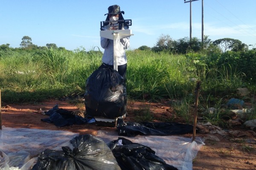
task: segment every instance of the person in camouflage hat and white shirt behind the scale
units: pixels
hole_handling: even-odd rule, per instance
[[[107,18],[104,25],[110,25],[108,27],[108,30],[116,29],[114,26],[117,24],[117,20],[124,20],[122,14],[125,14],[124,11],[120,11],[120,7],[118,5],[113,5],[108,7],[108,13]],[[109,22],[111,21],[111,22]],[[124,29],[128,29],[128,26],[125,26]],[[101,37],[101,46],[104,49],[104,54],[102,56],[102,65],[108,65],[109,67],[113,68],[113,40],[110,40],[108,38]],[[130,37],[125,37],[120,39],[122,48],[119,48],[119,51],[115,51],[116,57],[117,57],[117,71],[118,73],[123,77],[124,82],[126,82],[126,70],[127,70],[127,57],[125,53],[125,49],[129,48],[130,46]],[[117,45],[117,44],[115,44]]]

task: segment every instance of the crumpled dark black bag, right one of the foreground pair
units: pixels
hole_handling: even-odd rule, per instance
[[[108,146],[122,170],[177,170],[156,156],[150,147],[128,139],[119,137],[109,142]]]

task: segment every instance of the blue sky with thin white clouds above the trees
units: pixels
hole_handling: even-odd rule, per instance
[[[162,34],[173,40],[189,37],[190,5],[184,0],[0,0],[0,45],[17,48],[29,36],[38,46],[103,51],[100,21],[115,4],[132,20],[130,49],[153,47]],[[200,40],[201,7],[201,0],[192,2],[192,37]],[[204,0],[204,35],[255,45],[255,8],[256,0]]]

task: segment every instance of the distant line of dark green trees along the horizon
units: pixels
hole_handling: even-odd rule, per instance
[[[0,45],[0,50],[42,50],[42,49],[60,49],[66,50],[64,47],[58,47],[55,43],[47,43],[46,46],[38,46],[32,43],[32,39],[29,36],[23,36],[20,42],[20,48],[11,48],[10,44]],[[249,45],[250,46],[250,45]],[[255,45],[254,45],[255,46]],[[255,50],[256,48],[254,48]],[[226,51],[247,51],[248,45],[240,40],[232,38],[222,38],[215,41],[209,39],[209,36],[204,36],[204,42],[201,42],[197,37],[180,38],[173,40],[169,35],[161,35],[154,47],[150,48],[146,45],[140,46],[139,50],[151,50],[153,52],[169,52],[172,54],[186,54],[187,52],[226,52]]]

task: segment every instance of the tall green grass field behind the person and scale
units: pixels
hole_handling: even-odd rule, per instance
[[[132,99],[188,99],[194,93],[196,81],[201,81],[202,94],[225,96],[243,83],[243,75],[232,67],[198,66],[185,55],[131,50],[127,51],[127,56],[126,88],[128,97]],[[102,52],[83,49],[2,51],[2,101],[37,102],[82,95],[86,79],[101,65],[101,59]]]

